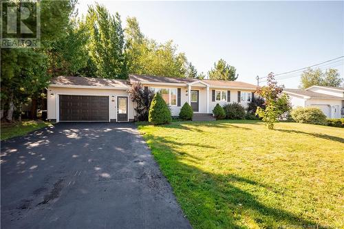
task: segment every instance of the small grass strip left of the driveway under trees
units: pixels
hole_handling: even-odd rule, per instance
[[[1,123],[1,140],[6,140],[8,138],[25,135],[26,133],[35,131],[36,129],[47,127],[48,125],[50,125],[49,122],[34,121],[34,120],[23,121],[21,122],[21,124]]]

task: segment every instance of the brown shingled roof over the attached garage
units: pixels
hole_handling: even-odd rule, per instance
[[[129,88],[127,80],[109,78],[91,78],[82,76],[57,76],[50,80],[51,87],[102,87],[102,88]]]

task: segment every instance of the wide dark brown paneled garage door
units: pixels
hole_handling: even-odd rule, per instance
[[[109,122],[108,96],[59,95],[60,121]]]

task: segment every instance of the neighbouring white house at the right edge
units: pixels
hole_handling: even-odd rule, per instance
[[[292,107],[319,107],[327,118],[344,117],[344,88],[312,86],[305,90],[284,89]]]

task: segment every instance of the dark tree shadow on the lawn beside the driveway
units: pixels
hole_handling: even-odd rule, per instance
[[[180,143],[153,135],[144,135],[144,138],[150,140],[149,146],[153,146],[152,152],[160,162],[162,173],[173,186],[184,213],[195,228],[246,228],[240,222],[247,222],[247,219],[261,228],[316,225],[279,206],[262,204],[255,195],[239,188],[238,183],[255,186],[253,189],[264,188],[266,193],[271,193],[272,187],[235,174],[202,171],[184,163],[190,161],[187,157],[192,157],[192,161],[197,158],[178,151]]]

